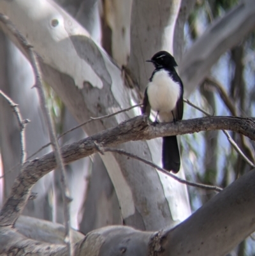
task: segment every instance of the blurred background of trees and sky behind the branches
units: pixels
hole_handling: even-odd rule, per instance
[[[128,64],[132,0],[56,0],[55,2],[75,17],[89,31],[94,41],[101,45],[120,67]],[[237,0],[193,2],[192,10],[189,10],[184,24],[184,54],[191,49],[194,41],[207,32],[208,27],[215,20],[221,19],[241,3]],[[224,52],[201,84],[188,90],[189,93],[186,93],[185,97],[190,102],[214,116],[254,116],[254,32],[240,38],[238,45]],[[181,58],[181,56],[178,57],[179,61]],[[25,129],[27,155],[31,156],[49,142],[47,130],[43,125],[38,96],[36,91],[31,89],[34,84],[34,75],[29,62],[1,31],[0,77],[0,89],[18,103],[22,117],[32,121]],[[184,84],[185,90],[186,84]],[[45,84],[45,91],[48,107],[54,116],[57,134],[60,135],[76,126],[75,119],[47,84]],[[1,206],[19,172],[20,147],[17,120],[2,99],[0,99],[0,106]],[[184,106],[184,119],[205,116],[186,103]],[[230,132],[230,135],[247,158],[254,163],[254,142],[239,134]],[[75,130],[61,138],[61,145],[84,137],[85,133],[82,129]],[[51,149],[47,147],[33,158],[50,151]],[[226,135],[221,131],[182,135],[180,151],[182,167],[189,181],[214,184],[224,188],[251,170],[251,166],[233,149]],[[77,169],[80,171],[75,172],[74,170]],[[87,233],[105,225],[122,224],[117,195],[98,155],[78,160],[68,165],[66,170],[69,190],[73,198],[71,226],[74,229]],[[97,170],[97,176],[94,175],[93,170]],[[33,192],[38,193],[38,197],[29,201],[23,214],[63,223],[59,186],[57,170],[40,179],[33,188]],[[215,192],[193,187],[188,187],[188,191],[192,211],[196,211],[215,195]],[[247,238],[229,255],[255,255],[253,236]]]

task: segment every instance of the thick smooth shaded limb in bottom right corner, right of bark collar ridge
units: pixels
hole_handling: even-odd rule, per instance
[[[254,177],[254,170],[240,177],[179,227],[164,232],[164,251],[173,255],[223,256],[233,250],[255,230]]]

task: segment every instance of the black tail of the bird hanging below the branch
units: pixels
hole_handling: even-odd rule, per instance
[[[179,172],[180,153],[176,136],[163,137],[162,163],[164,169]]]

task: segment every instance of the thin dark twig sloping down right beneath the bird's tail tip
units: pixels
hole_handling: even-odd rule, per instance
[[[111,147],[100,147],[100,151],[103,149],[103,151],[105,152],[114,152],[114,153],[118,153],[118,154],[123,154],[125,156],[134,158],[136,160],[139,160],[143,163],[146,163],[147,165],[150,165],[151,167],[159,170],[160,172],[163,172],[163,174],[166,174],[167,176],[172,177],[173,179],[175,179],[176,181],[178,181],[179,183],[183,183],[183,184],[187,184],[189,186],[195,186],[196,188],[203,188],[205,190],[214,190],[216,192],[221,192],[222,188],[219,188],[218,186],[210,186],[210,185],[205,185],[205,184],[201,184],[201,183],[194,183],[191,181],[186,181],[185,179],[181,179],[180,177],[175,176],[174,174],[171,174],[171,172],[168,172],[166,170],[164,170],[163,168],[159,167],[158,165],[156,165],[155,163],[152,163],[148,160],[145,160],[143,158],[140,158],[139,156],[136,156],[135,154],[132,153],[128,153],[122,149],[113,149]],[[99,149],[98,149],[99,151]]]

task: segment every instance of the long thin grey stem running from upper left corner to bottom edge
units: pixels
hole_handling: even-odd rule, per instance
[[[52,142],[52,146],[54,147],[54,153],[55,153],[55,158],[57,161],[57,166],[61,170],[61,184],[62,184],[62,197],[64,201],[64,223],[65,223],[65,228],[66,228],[66,245],[68,247],[68,252],[69,255],[73,255],[72,252],[72,246],[71,246],[71,232],[70,232],[70,216],[69,216],[69,193],[68,193],[68,187],[66,184],[66,178],[65,178],[65,173],[64,173],[64,163],[62,162],[62,157],[61,157],[61,151],[59,149],[59,144],[57,142],[57,137],[55,136],[53,124],[52,124],[52,119],[50,117],[50,113],[48,111],[47,105],[46,105],[46,100],[45,100],[45,94],[43,91],[43,82],[41,79],[41,72],[40,72],[40,66],[38,64],[38,58],[33,50],[32,45],[30,45],[27,40],[25,39],[24,36],[13,26],[11,23],[10,19],[6,17],[5,15],[0,15],[0,20],[3,22],[8,29],[10,29],[11,33],[13,36],[15,36],[15,39],[22,45],[22,47],[27,51],[31,66],[34,71],[34,76],[36,79],[36,84],[34,87],[36,87],[39,98],[40,98],[40,103],[41,103],[41,110],[43,111],[43,116],[45,118],[45,122],[47,124],[48,132],[50,133],[50,140]]]

